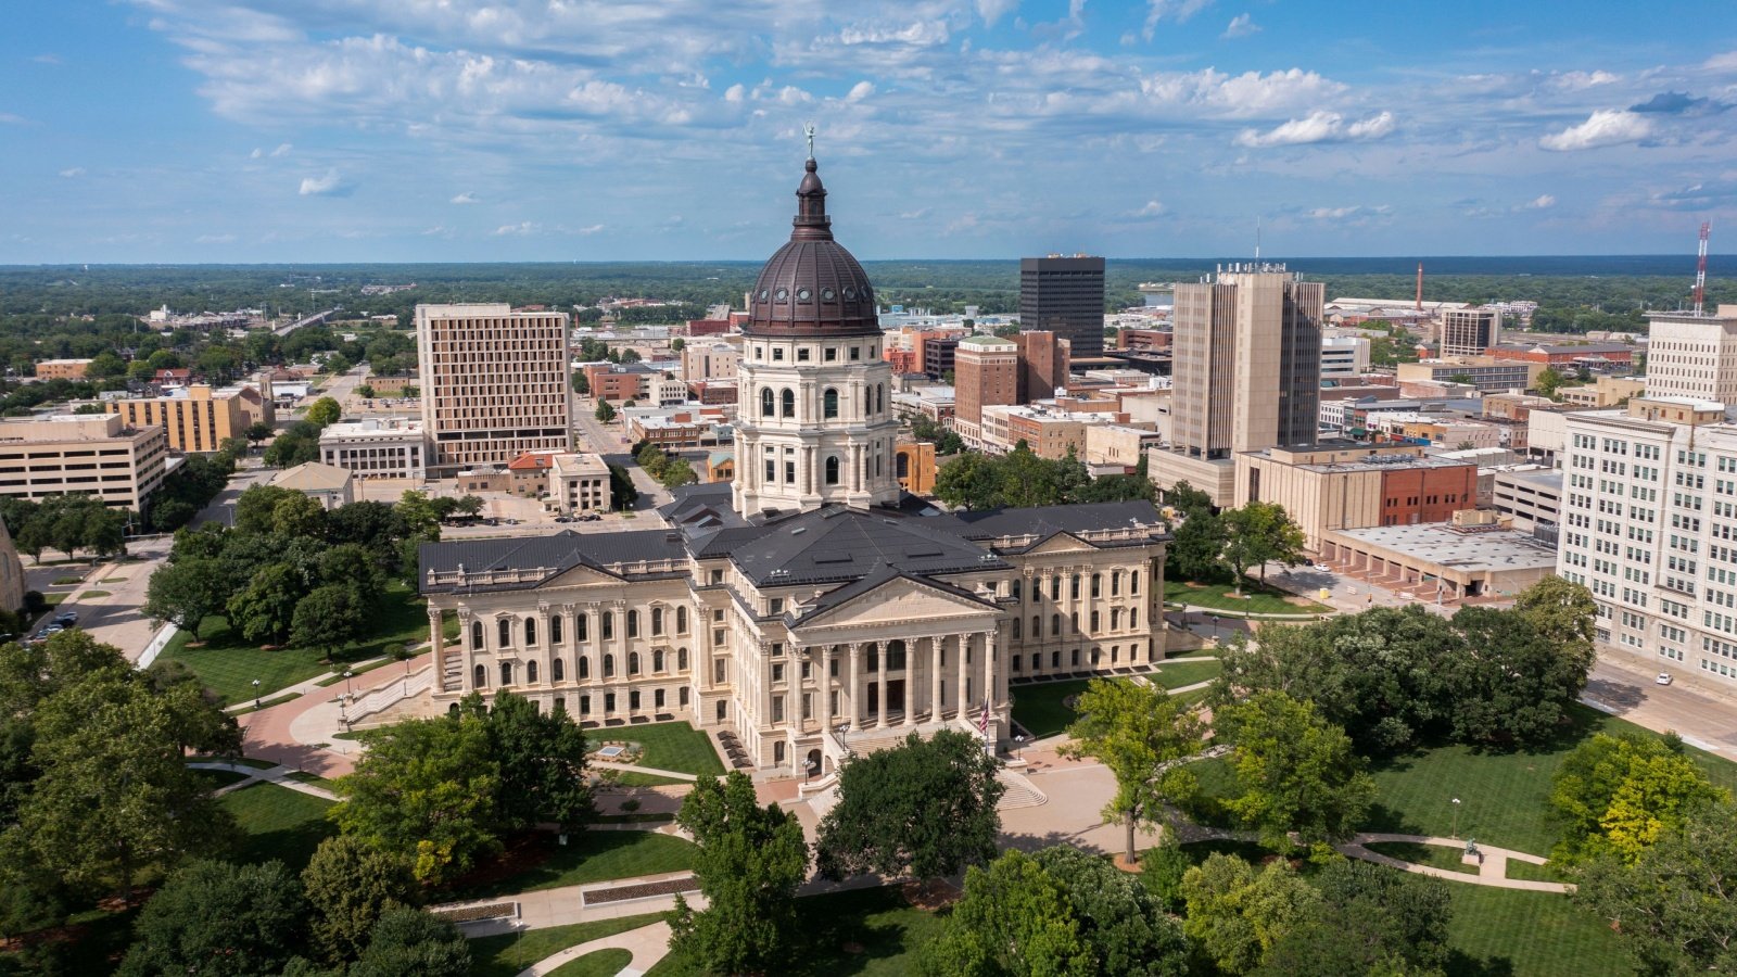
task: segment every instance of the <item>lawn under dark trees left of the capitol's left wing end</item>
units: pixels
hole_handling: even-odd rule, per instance
[[[391,655],[401,650],[405,641],[427,640],[429,619],[422,608],[422,598],[410,591],[401,581],[387,586],[379,614],[372,617],[375,628],[370,636],[334,655],[334,661],[321,661],[323,652],[316,648],[280,648],[262,652],[259,645],[248,643],[241,635],[229,629],[222,617],[207,617],[200,626],[205,645],[189,648],[191,635],[177,631],[163,648],[165,659],[175,659],[191,668],[205,685],[222,697],[224,704],[245,702],[255,697],[254,680],[259,680],[259,695],[271,695],[280,688],[307,681],[328,671],[344,671],[349,662]]]

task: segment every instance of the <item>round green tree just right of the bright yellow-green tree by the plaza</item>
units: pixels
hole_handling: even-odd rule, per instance
[[[1232,748],[1238,796],[1225,807],[1278,852],[1350,838],[1376,796],[1364,758],[1344,730],[1322,720],[1313,702],[1258,692],[1225,706],[1214,727]]]

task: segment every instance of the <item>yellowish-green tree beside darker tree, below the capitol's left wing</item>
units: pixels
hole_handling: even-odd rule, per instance
[[[413,857],[417,880],[438,883],[499,847],[500,765],[472,716],[403,720],[365,730],[356,770],[337,781],[328,814],[346,834]]]

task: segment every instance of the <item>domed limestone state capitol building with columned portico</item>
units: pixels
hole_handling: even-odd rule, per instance
[[[768,774],[941,725],[1009,734],[1009,681],[1164,657],[1150,502],[943,513],[895,478],[874,285],[813,158],[750,294],[733,483],[672,528],[422,546],[429,711],[511,688],[585,727],[730,730]],[[441,635],[443,614],[459,640]]]

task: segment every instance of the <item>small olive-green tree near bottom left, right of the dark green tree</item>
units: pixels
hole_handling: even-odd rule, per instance
[[[320,843],[302,869],[302,887],[313,907],[314,946],[334,965],[363,954],[380,914],[422,902],[408,859],[346,834]]]

